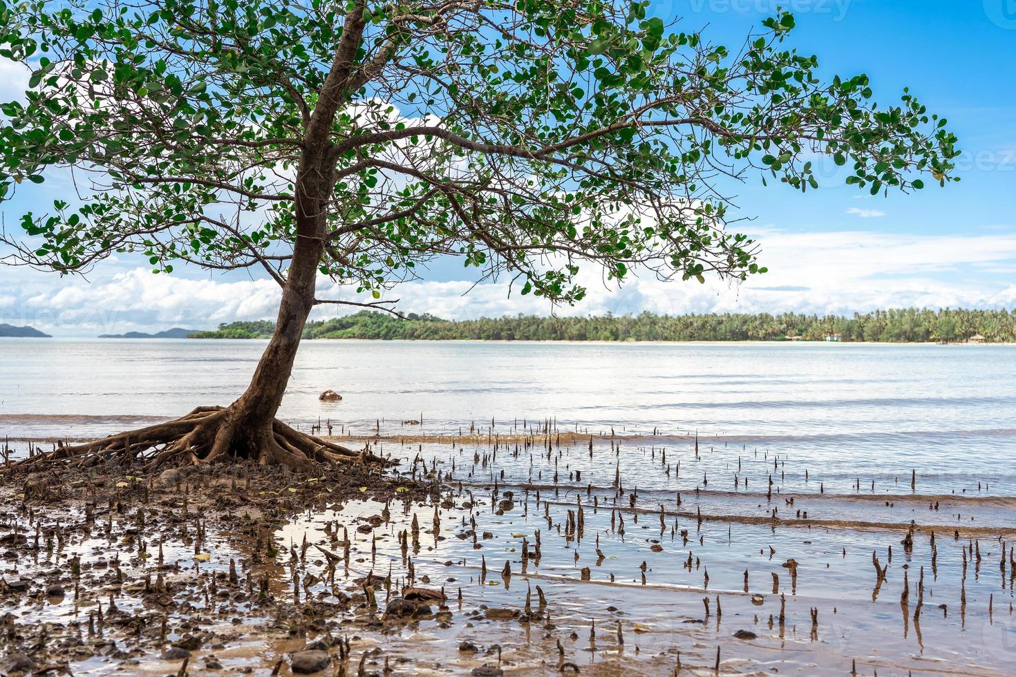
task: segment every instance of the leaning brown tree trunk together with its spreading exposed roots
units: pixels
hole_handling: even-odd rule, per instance
[[[317,464],[395,462],[353,452],[332,441],[294,430],[277,420],[285,387],[307,318],[315,303],[315,283],[328,238],[328,201],[335,188],[335,159],[328,142],[335,112],[345,100],[357,50],[365,25],[364,2],[347,10],[335,59],[322,86],[321,96],[303,139],[303,150],[294,183],[296,242],[275,333],[254,370],[244,394],[229,407],[198,407],[180,418],[137,430],[67,447],[19,462],[34,468],[42,463],[74,460],[78,468],[138,455],[146,470],[167,465],[203,464],[230,458],[252,459],[262,464],[310,469]]]

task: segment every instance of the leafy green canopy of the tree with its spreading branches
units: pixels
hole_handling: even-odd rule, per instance
[[[729,51],[647,5],[0,0],[0,58],[31,70],[0,107],[0,200],[61,167],[81,191],[25,214],[10,261],[139,252],[284,284],[307,236],[374,298],[450,255],[571,302],[582,263],[764,271],[723,193],[755,173],[804,192],[831,159],[872,195],[953,180],[946,121],[908,91],[876,105],[865,75],[820,79],[783,45],[789,13]]]

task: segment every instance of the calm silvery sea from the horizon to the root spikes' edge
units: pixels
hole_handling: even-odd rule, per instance
[[[0,339],[0,434],[99,436],[229,404],[264,345]],[[328,388],[342,402],[319,402]],[[908,485],[917,467],[926,490],[1016,494],[1016,346],[316,341],[280,417],[336,433],[556,417],[561,430],[657,428],[659,446],[697,430],[707,448],[838,469],[843,489],[854,474]]]

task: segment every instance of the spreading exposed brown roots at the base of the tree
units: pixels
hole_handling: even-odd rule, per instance
[[[341,445],[300,432],[278,419],[263,429],[239,423],[228,407],[198,407],[186,416],[136,430],[67,446],[21,459],[13,469],[30,469],[53,463],[76,468],[122,460],[143,464],[145,472],[162,468],[202,465],[230,460],[256,461],[261,465],[313,470],[322,464],[378,464],[393,462],[366,449],[354,452]]]

